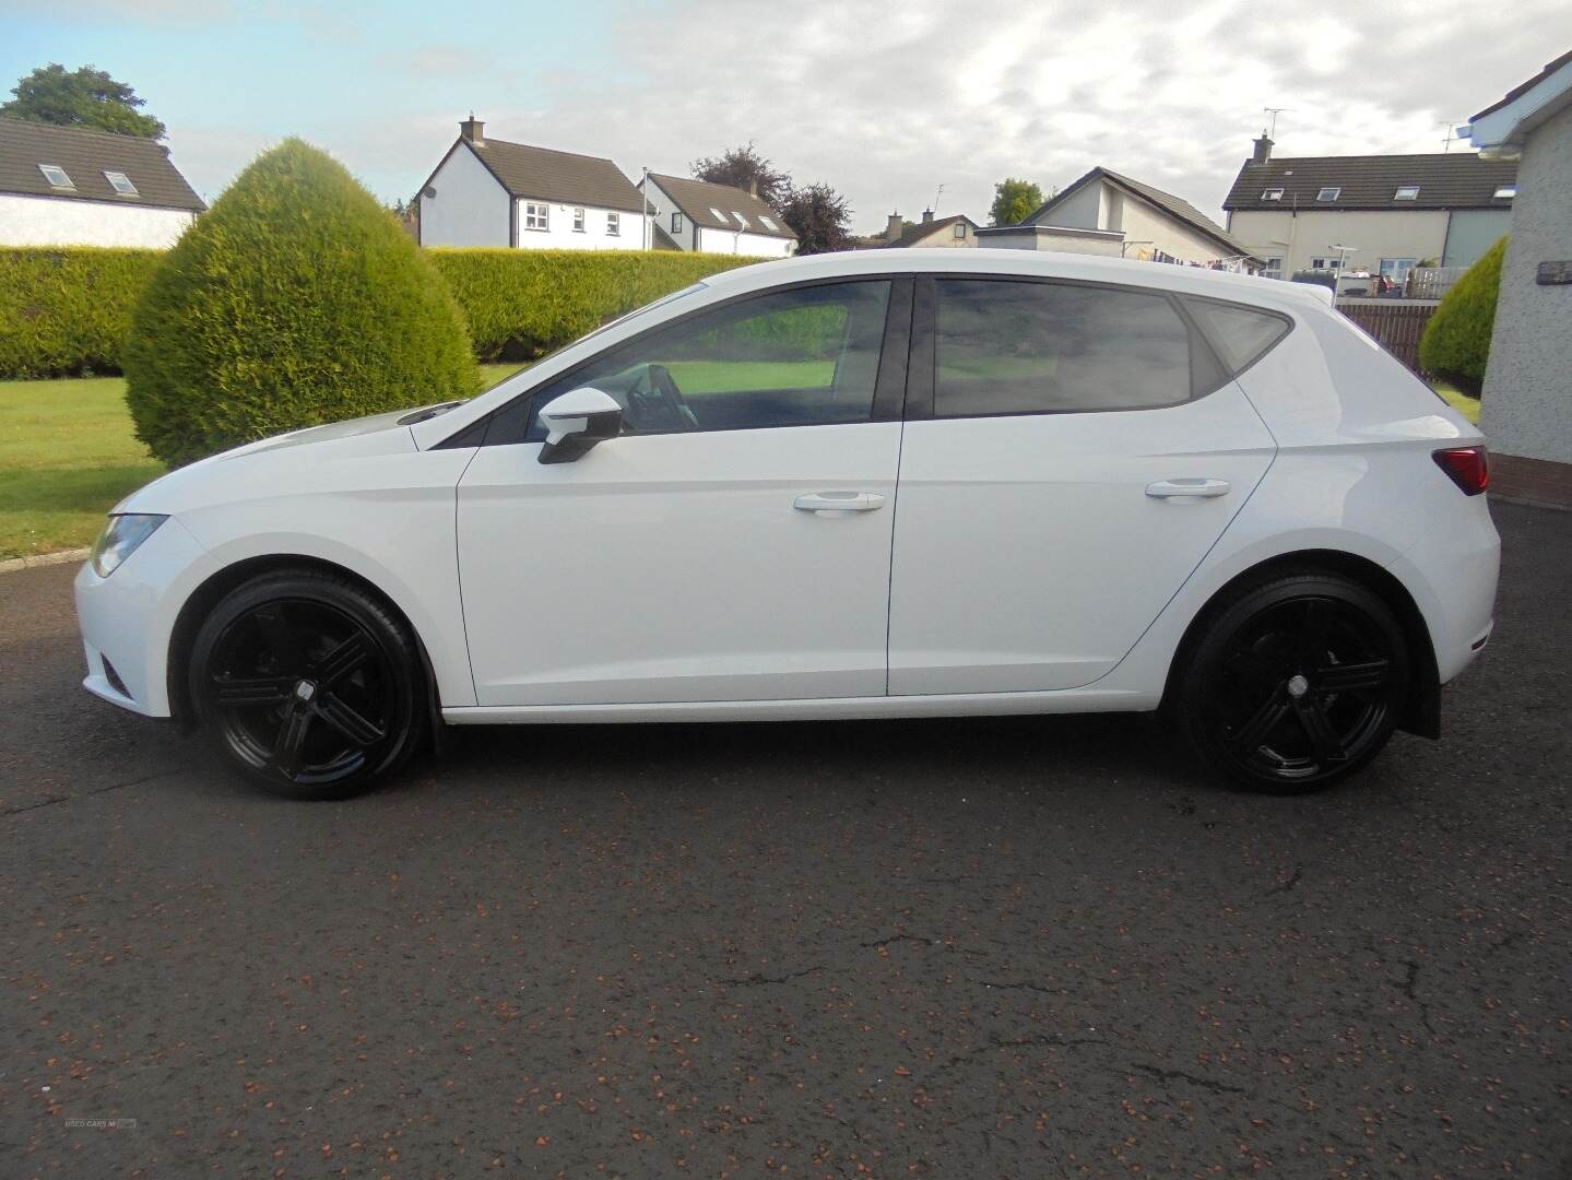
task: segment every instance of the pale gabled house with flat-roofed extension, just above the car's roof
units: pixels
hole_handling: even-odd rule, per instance
[[[1250,272],[1261,262],[1181,196],[1093,168],[1020,225],[978,229],[978,245],[1118,255]]]

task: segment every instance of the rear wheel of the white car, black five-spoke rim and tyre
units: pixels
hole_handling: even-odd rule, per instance
[[[1188,746],[1253,790],[1319,790],[1387,745],[1412,660],[1366,586],[1300,570],[1215,603],[1187,644],[1171,698]]]

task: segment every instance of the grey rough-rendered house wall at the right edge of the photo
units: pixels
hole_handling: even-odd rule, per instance
[[[1572,261],[1572,110],[1530,134],[1517,168],[1484,377],[1482,426],[1501,454],[1572,464],[1572,286],[1539,286],[1541,262]]]

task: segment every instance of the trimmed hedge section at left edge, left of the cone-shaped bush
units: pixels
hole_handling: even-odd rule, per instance
[[[0,377],[119,369],[130,310],[162,258],[96,247],[0,250]]]

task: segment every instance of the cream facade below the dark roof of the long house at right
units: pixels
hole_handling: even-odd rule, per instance
[[[1253,255],[1283,259],[1283,278],[1308,270],[1309,259],[1336,256],[1331,245],[1342,242],[1349,270],[1376,270],[1383,258],[1440,258],[1446,250],[1445,209],[1328,209],[1254,211],[1229,214],[1228,229]],[[1278,245],[1291,242],[1291,247]]]

